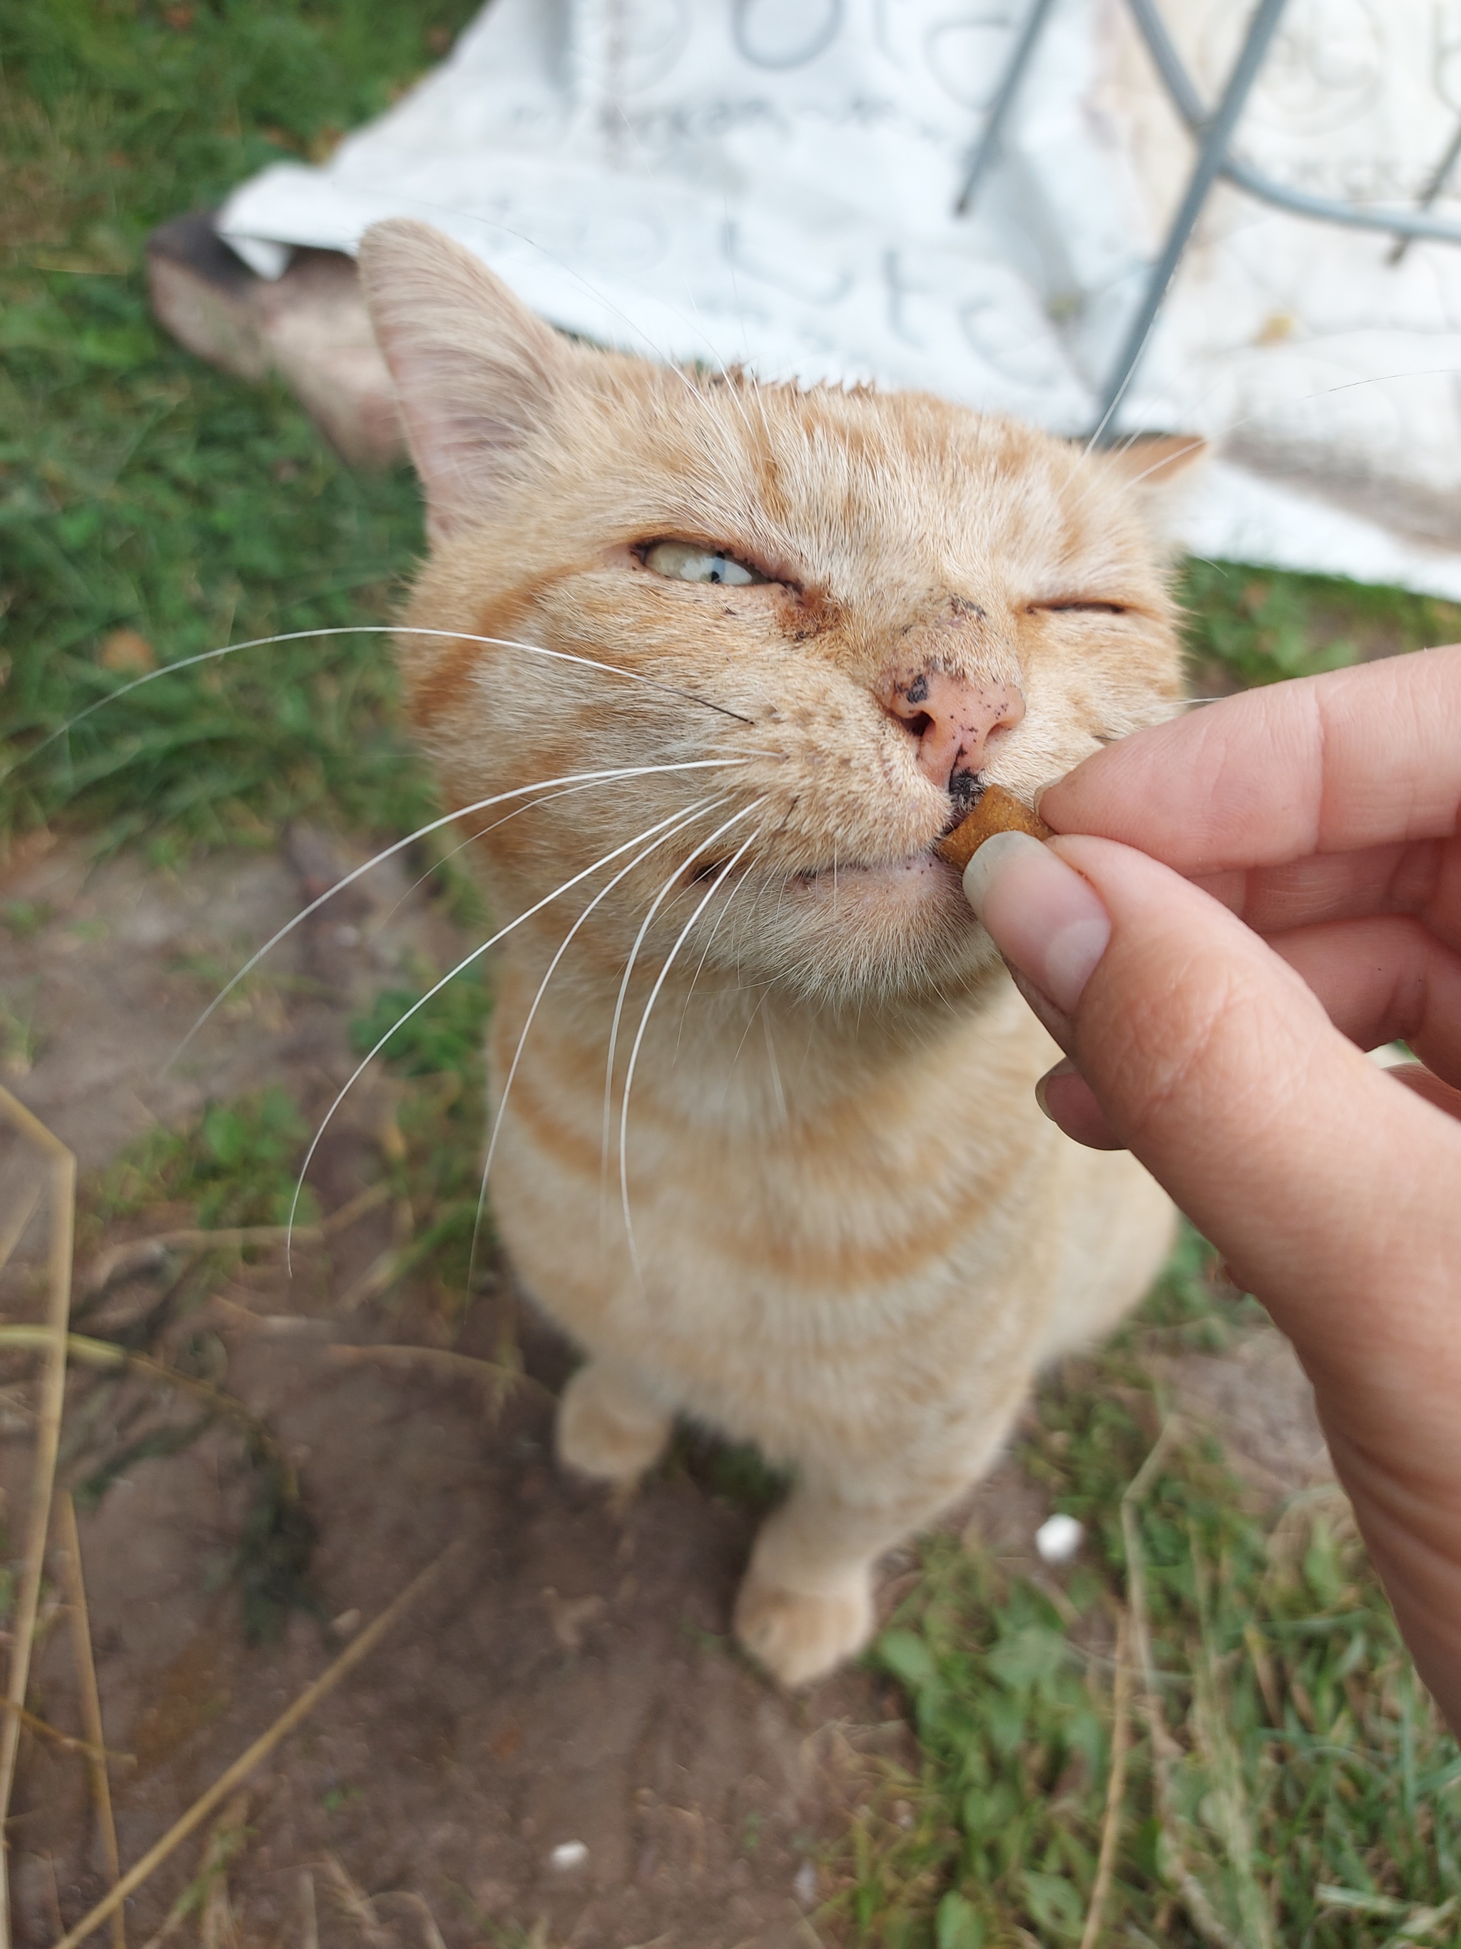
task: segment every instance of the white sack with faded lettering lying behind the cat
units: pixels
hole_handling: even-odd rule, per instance
[[[220,234],[265,277],[421,216],[555,324],[764,378],[921,386],[1087,433],[1192,142],[1122,0],[1060,0],[955,216],[1025,0],[493,0],[323,168]],[[1165,0],[1206,99],[1249,8]],[[1290,0],[1237,152],[1420,197],[1461,115],[1461,0]],[[1457,170],[1461,179],[1461,170]],[[1436,214],[1461,220],[1461,193]],[[1122,427],[1202,433],[1202,555],[1461,598],[1461,246],[1208,205]]]

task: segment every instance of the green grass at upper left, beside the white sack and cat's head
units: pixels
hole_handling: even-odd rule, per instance
[[[468,0],[0,0],[0,737],[23,756],[158,663],[388,618],[421,546],[405,472],[353,476],[279,388],[150,320],[152,224],[382,109]],[[329,807],[431,803],[380,637],[244,651],[146,684],[0,780],[0,830],[66,813],[169,850],[267,844]]]

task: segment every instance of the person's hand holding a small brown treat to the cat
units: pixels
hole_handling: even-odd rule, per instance
[[[1293,1341],[1461,1731],[1459,809],[1453,647],[1112,745],[964,891],[1066,1051],[1046,1115],[1132,1150]]]

